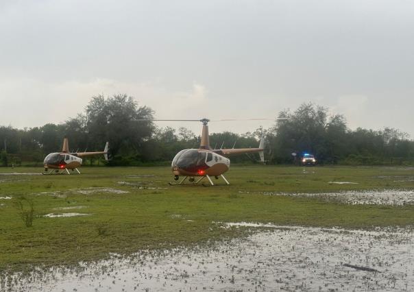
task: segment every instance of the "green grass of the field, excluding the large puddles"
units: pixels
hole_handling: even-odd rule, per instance
[[[219,228],[217,221],[342,228],[414,225],[413,205],[345,205],[260,193],[414,189],[414,182],[396,179],[412,178],[414,170],[408,168],[236,166],[226,175],[230,186],[214,180],[220,184],[214,187],[169,186],[169,167],[84,167],[82,175],[5,175],[41,170],[0,168],[0,197],[13,198],[0,199],[0,270],[74,265],[105,258],[108,252],[130,254],[241,235],[240,229]],[[328,183],[332,181],[358,184]],[[90,193],[80,193],[82,189]],[[29,228],[14,206],[21,196],[34,204]],[[44,217],[64,212],[89,216]]]

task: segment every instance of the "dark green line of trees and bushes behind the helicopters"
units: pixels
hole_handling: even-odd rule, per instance
[[[110,165],[151,165],[171,161],[181,149],[197,148],[200,136],[185,127],[157,127],[154,110],[138,106],[127,95],[90,99],[84,112],[58,125],[16,129],[0,126],[0,164],[42,165],[45,156],[60,151],[64,136],[71,151],[98,151],[110,143]],[[265,136],[265,155],[271,164],[292,164],[308,152],[320,164],[383,165],[412,164],[414,141],[400,130],[385,127],[350,130],[341,114],[328,114],[328,108],[302,104],[294,111],[277,114],[272,127],[254,132],[210,134],[210,146],[216,148],[257,147]],[[201,127],[200,127],[201,128]],[[292,154],[297,154],[293,156]],[[255,161],[253,156],[232,158],[232,162]],[[88,158],[95,165],[101,158]]]

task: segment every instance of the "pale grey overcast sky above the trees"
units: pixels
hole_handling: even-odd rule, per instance
[[[116,93],[160,119],[273,118],[311,101],[352,129],[414,138],[414,1],[0,1],[0,125],[61,123]]]

